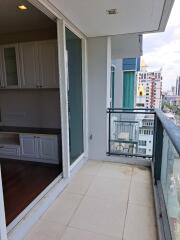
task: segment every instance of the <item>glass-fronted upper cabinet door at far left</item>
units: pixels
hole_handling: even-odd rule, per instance
[[[20,67],[18,45],[3,46],[4,76],[6,88],[20,87]]]

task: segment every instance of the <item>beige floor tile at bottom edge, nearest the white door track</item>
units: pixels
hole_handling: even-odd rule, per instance
[[[24,240],[59,240],[65,228],[63,225],[39,220]]]

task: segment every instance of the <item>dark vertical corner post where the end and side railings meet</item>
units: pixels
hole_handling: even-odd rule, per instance
[[[155,184],[161,179],[162,148],[163,148],[163,126],[156,115],[155,121],[155,146],[154,146],[154,178]]]

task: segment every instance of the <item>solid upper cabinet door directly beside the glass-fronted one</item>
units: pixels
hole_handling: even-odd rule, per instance
[[[35,42],[21,43],[20,60],[22,88],[36,88],[40,86],[37,67],[37,49]]]

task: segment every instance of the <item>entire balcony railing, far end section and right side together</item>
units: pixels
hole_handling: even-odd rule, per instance
[[[158,226],[161,239],[179,240],[180,128],[157,109],[110,108],[107,113],[108,155],[152,158],[156,212],[158,212],[157,217],[160,222]],[[144,136],[141,136],[141,130],[145,133]],[[147,147],[141,146],[146,144],[141,141],[150,141],[150,136],[147,134],[150,132],[146,130],[153,130],[150,155],[139,151],[140,148]]]

